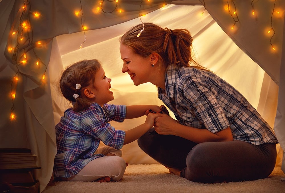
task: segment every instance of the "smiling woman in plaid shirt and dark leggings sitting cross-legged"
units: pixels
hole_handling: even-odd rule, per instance
[[[186,29],[134,26],[120,38],[122,72],[150,82],[177,120],[160,114],[140,148],[169,171],[213,183],[266,178],[276,162],[270,126],[229,83],[197,64]]]

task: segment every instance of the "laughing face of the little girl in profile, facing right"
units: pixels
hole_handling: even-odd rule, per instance
[[[89,85],[87,89],[91,91],[91,96],[95,95],[93,102],[98,103],[103,106],[103,104],[114,100],[113,92],[109,89],[111,88],[111,78],[105,76],[105,71],[102,67],[97,70],[94,77],[94,84]]]

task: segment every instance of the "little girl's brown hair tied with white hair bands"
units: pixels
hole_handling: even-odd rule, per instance
[[[88,108],[91,103],[84,95],[84,88],[93,84],[94,74],[101,67],[98,60],[82,60],[76,62],[66,68],[62,73],[59,82],[59,88],[62,95],[73,103],[73,111],[79,112]],[[76,84],[81,85],[80,89],[76,89]],[[75,100],[73,95],[78,94]]]

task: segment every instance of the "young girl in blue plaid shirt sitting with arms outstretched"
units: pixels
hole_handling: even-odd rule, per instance
[[[120,149],[153,127],[157,114],[149,112],[160,111],[160,107],[106,104],[114,99],[110,82],[98,60],[77,62],[63,72],[60,90],[73,108],[67,109],[55,126],[55,179],[119,181],[126,168]],[[146,121],[128,131],[115,130],[108,123],[143,115],[147,115]],[[100,141],[106,146],[98,148]]]

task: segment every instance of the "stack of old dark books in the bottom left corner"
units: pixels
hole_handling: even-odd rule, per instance
[[[8,184],[12,192],[39,192],[39,182],[34,179],[36,165],[30,149],[0,149],[0,182]]]

